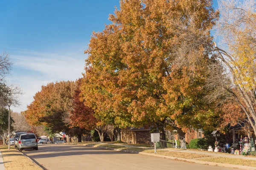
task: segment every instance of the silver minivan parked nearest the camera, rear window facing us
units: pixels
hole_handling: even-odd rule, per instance
[[[23,133],[18,138],[18,150],[35,149],[38,150],[38,140],[34,133]]]

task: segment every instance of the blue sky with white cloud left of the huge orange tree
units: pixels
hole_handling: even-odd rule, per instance
[[[24,92],[12,108],[19,112],[41,85],[81,77],[91,33],[110,23],[119,0],[2,0],[0,6],[0,53],[9,52],[9,82]]]

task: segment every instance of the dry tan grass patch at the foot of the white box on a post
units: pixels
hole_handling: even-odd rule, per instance
[[[210,157],[210,156],[204,155],[204,154],[172,152],[172,151],[161,152],[161,153],[157,153],[157,154],[164,155],[164,156],[173,156],[173,157],[177,157],[177,158],[186,158],[186,159]]]

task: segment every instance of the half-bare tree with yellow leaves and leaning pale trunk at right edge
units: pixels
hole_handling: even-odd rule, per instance
[[[209,65],[209,101],[233,99],[256,133],[256,11],[255,0],[219,0],[218,40]],[[236,116],[236,115],[233,115]],[[241,115],[242,116],[242,115]]]

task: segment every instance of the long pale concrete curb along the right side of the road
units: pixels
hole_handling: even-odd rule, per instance
[[[250,167],[250,166],[244,166],[244,165],[223,164],[223,163],[208,162],[208,161],[198,161],[198,160],[193,160],[193,159],[177,158],[177,157],[173,157],[173,156],[157,155],[157,154],[153,154],[153,153],[144,153],[144,152],[138,152],[138,151],[133,151],[133,150],[123,150],[123,149],[114,149],[114,148],[108,148],[108,147],[102,147],[102,146],[95,146],[95,145],[92,145],[92,144],[77,144],[77,145],[88,146],[88,147],[99,147],[101,149],[115,150],[115,151],[128,152],[128,153],[137,153],[137,154],[141,154],[141,155],[172,159],[172,160],[175,160],[175,161],[185,161],[185,162],[188,162],[188,163],[195,163],[195,164],[236,168],[236,169],[242,169],[242,170],[256,170],[256,167]]]

